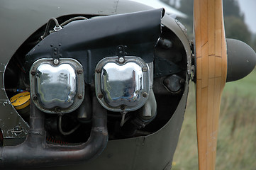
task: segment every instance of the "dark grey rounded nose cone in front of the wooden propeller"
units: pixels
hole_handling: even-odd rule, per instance
[[[246,77],[256,65],[256,53],[245,42],[235,39],[226,39],[228,50],[227,80],[235,81]]]

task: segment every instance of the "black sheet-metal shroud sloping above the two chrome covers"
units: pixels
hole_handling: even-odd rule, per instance
[[[57,33],[48,35],[26,55],[26,69],[40,58],[74,58],[81,62],[84,79],[91,84],[96,64],[104,57],[125,54],[154,60],[154,47],[161,32],[163,9],[74,21]]]

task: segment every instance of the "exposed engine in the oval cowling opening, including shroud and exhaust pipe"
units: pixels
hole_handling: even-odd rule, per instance
[[[26,140],[9,147],[3,128],[2,165],[82,163],[102,157],[112,141],[144,138],[167,126],[186,104],[179,106],[187,100],[191,49],[182,24],[168,16],[165,26],[164,15],[155,9],[60,16],[30,35],[4,77],[6,94],[25,123],[11,132]],[[172,120],[175,125],[181,127],[183,114]],[[179,135],[173,134],[177,145]]]

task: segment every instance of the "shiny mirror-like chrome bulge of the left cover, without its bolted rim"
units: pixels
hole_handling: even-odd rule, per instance
[[[44,108],[69,108],[74,103],[77,77],[71,65],[52,67],[50,64],[41,64],[35,79],[35,93]]]

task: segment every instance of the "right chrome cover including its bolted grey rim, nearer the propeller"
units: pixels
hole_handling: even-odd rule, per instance
[[[96,66],[95,84],[104,108],[135,111],[148,99],[148,64],[140,57],[106,57]]]

